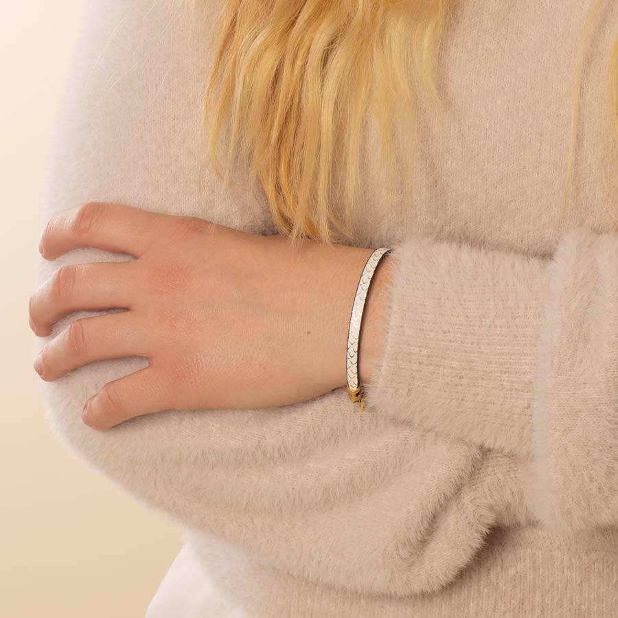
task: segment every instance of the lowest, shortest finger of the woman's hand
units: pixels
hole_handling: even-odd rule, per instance
[[[108,382],[84,405],[82,419],[93,429],[108,429],[123,421],[171,408],[163,380],[152,367]]]

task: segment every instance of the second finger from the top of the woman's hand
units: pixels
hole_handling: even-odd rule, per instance
[[[135,279],[135,261],[62,266],[30,297],[31,328],[47,336],[58,320],[75,311],[130,309]]]

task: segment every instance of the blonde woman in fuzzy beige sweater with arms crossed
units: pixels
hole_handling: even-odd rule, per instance
[[[185,526],[153,618],[615,616],[617,23],[91,6],[30,316],[58,437]]]

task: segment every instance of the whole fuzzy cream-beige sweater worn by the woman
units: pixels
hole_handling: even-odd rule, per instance
[[[447,111],[421,104],[413,192],[385,216],[367,124],[359,244],[392,247],[396,268],[365,413],[336,389],[99,432],[82,423],[84,400],[144,358],[41,382],[58,439],[181,523],[249,615],[618,615],[618,148],[605,91],[618,3],[607,4],[564,212],[586,2],[456,3],[436,62]],[[224,187],[210,168],[198,184],[219,6],[89,4],[41,229],[55,211],[99,200],[276,232],[260,187]],[[64,264],[128,259],[41,258],[36,284]]]

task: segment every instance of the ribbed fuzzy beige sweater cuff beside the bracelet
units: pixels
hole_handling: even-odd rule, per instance
[[[391,258],[369,411],[527,455],[549,261],[420,237]]]

